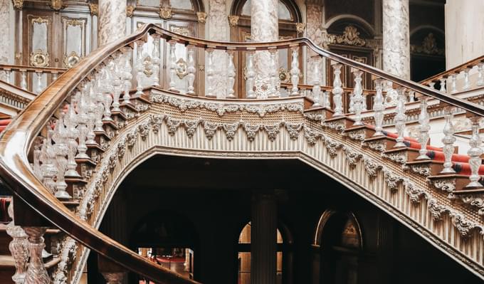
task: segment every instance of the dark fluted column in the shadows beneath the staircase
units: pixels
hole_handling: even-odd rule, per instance
[[[278,210],[274,194],[254,194],[251,223],[251,284],[275,284]]]

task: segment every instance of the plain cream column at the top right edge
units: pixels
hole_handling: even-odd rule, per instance
[[[483,55],[484,5],[482,0],[446,1],[446,68]]]

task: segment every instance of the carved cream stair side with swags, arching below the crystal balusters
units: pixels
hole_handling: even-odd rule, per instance
[[[478,210],[449,199],[445,186],[438,188],[415,167],[364,142],[361,127],[344,131],[344,119],[325,122],[326,110],[304,111],[304,98],[220,102],[152,89],[151,100],[110,141],[85,186],[76,214],[95,228],[123,179],[153,155],[300,159],[484,278]],[[84,250],[78,272],[87,257]]]

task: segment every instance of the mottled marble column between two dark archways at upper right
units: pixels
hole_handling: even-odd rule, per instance
[[[383,0],[383,70],[410,79],[409,0]]]

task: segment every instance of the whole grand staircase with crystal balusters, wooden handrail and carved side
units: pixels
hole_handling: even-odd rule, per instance
[[[153,65],[143,57],[148,37],[154,39],[147,51],[153,54]],[[167,88],[159,84],[156,64],[162,42],[170,52]],[[188,53],[182,83],[177,77],[176,48]],[[261,95],[254,55],[283,48],[290,48],[293,56],[290,83],[279,85],[274,68]],[[332,86],[321,86],[319,80],[309,87],[299,84],[302,48],[335,62]],[[199,51],[206,52],[206,62],[196,56],[204,54]],[[226,93],[214,88],[219,80],[214,76],[214,54],[220,53],[228,61]],[[234,90],[236,53],[248,55],[246,94]],[[270,58],[274,67],[275,56]],[[195,66],[203,62],[206,73],[199,74]],[[342,65],[354,68],[350,113],[343,113]],[[362,89],[362,73],[374,76],[374,91]],[[203,79],[195,78],[204,78],[201,75],[206,75],[206,92],[196,96],[194,90]],[[374,95],[370,110],[364,107],[367,93]],[[418,101],[409,101],[409,93]],[[196,283],[98,231],[122,179],[154,154],[300,159],[484,278],[480,183],[484,166],[479,137],[484,107],[473,103],[474,97],[461,97],[337,56],[307,38],[220,43],[143,26],[98,48],[25,110],[0,120],[1,185],[11,191],[14,204],[9,207],[14,221],[0,227],[1,283],[14,283],[10,280],[14,273],[14,280],[25,283],[78,283],[89,249],[101,256],[101,272],[108,281],[129,270],[156,283]],[[443,123],[430,122],[428,105],[441,107]],[[419,122],[417,138],[405,136],[412,115]],[[458,153],[453,117],[471,121],[467,154]],[[384,125],[387,120],[394,124]],[[433,147],[429,140],[435,132],[443,138]],[[1,214],[5,216],[5,210]],[[12,238],[10,253],[6,247]]]

